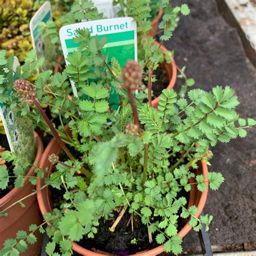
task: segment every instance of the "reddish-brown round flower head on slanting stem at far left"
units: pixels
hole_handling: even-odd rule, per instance
[[[22,96],[23,101],[32,103],[32,99],[36,98],[36,88],[33,87],[29,82],[18,79],[15,81],[14,87],[18,94]]]

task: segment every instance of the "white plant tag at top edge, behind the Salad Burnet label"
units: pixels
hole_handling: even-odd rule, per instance
[[[113,0],[92,0],[92,3],[99,13],[103,13],[104,17],[109,19],[118,17],[118,12],[121,10],[120,4],[113,6]]]

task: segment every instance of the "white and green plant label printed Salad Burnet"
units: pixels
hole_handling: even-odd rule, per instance
[[[137,60],[137,24],[133,18],[113,18],[102,19],[100,21],[82,22],[63,26],[59,31],[60,42],[66,58],[68,55],[76,51],[79,44],[75,43],[73,39],[78,35],[77,29],[89,29],[91,37],[98,35],[98,38],[107,38],[107,43],[103,48],[103,54],[108,55],[108,61],[116,58],[121,67],[123,67],[127,60]],[[111,65],[111,63],[109,63]],[[77,96],[77,90],[74,83],[72,84],[73,93]],[[119,95],[116,89],[111,86],[109,103],[112,109],[116,110],[119,107]]]

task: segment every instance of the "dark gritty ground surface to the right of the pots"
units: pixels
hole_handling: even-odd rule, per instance
[[[186,74],[196,80],[196,88],[208,91],[215,85],[230,85],[241,103],[239,114],[255,119],[256,72],[246,58],[237,31],[219,15],[214,0],[182,3],[190,6],[191,14],[181,17],[166,48],[174,50],[177,65],[187,66]],[[172,4],[180,5],[180,1],[173,0]],[[176,88],[179,86],[178,79]],[[213,251],[256,250],[255,129],[248,131],[245,139],[219,143],[213,153],[208,169],[225,177],[225,184],[208,194],[204,209],[205,214],[214,217],[208,232]],[[184,253],[200,253],[198,234],[191,231],[183,247]]]

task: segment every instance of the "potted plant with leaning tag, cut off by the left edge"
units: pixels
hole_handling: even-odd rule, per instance
[[[0,55],[4,56],[4,53],[5,51],[1,51]],[[10,69],[13,63],[13,57],[1,60],[1,90],[4,90],[5,83],[14,84],[12,70]],[[7,74],[7,72],[8,77],[5,77],[4,74]],[[2,97],[1,103],[4,103],[5,100],[6,98]],[[24,233],[29,231],[31,221],[37,225],[42,223],[42,216],[37,204],[35,192],[36,177],[34,175],[37,164],[43,154],[43,143],[37,133],[35,133],[35,138],[33,138],[31,121],[21,118],[17,122],[16,106],[12,105],[11,109],[8,111],[4,109],[2,111],[5,122],[8,124],[8,130],[6,131],[8,131],[11,144],[8,143],[2,118],[0,118],[0,248],[3,248],[8,243],[9,245],[14,245],[15,239],[8,240],[8,242],[5,242],[5,240],[9,237],[15,237],[16,233],[17,238],[21,239]],[[10,130],[10,127],[12,127],[12,130]],[[26,129],[25,136],[19,130],[21,127]],[[12,137],[12,134],[15,134],[15,139]],[[5,148],[8,150],[11,148],[14,152],[11,153],[5,150]],[[10,160],[14,160],[15,156],[19,156],[20,159],[11,164]],[[23,231],[21,232],[21,230]],[[34,239],[33,235],[29,237],[31,246],[28,253],[30,254],[38,253],[41,250],[42,235],[38,232],[36,235],[37,240],[36,238]],[[25,245],[21,241],[17,246],[21,249]],[[15,250],[12,253],[17,255]]]

